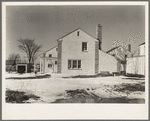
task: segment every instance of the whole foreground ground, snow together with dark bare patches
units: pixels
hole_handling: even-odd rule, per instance
[[[12,96],[16,91],[15,94],[28,95],[23,103],[145,103],[144,78],[62,78],[58,74],[34,78],[37,76],[44,75],[7,73],[6,97],[8,92]]]

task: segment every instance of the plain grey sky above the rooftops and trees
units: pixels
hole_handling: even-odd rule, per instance
[[[6,7],[6,57],[18,53],[22,39],[35,39],[41,44],[40,52],[57,45],[57,39],[81,28],[96,37],[96,27],[102,25],[102,50],[131,44],[131,51],[145,41],[145,8],[117,5],[76,6],[7,6]],[[97,38],[97,37],[96,37]]]

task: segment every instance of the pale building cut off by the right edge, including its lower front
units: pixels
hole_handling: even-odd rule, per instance
[[[145,42],[139,45],[139,55],[127,58],[127,73],[145,75]]]

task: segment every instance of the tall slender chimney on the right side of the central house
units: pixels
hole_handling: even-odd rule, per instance
[[[98,24],[97,26],[97,40],[99,41],[99,49],[102,49],[102,26]]]

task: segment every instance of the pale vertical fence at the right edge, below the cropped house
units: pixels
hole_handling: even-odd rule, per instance
[[[145,56],[127,58],[126,73],[145,75]]]

